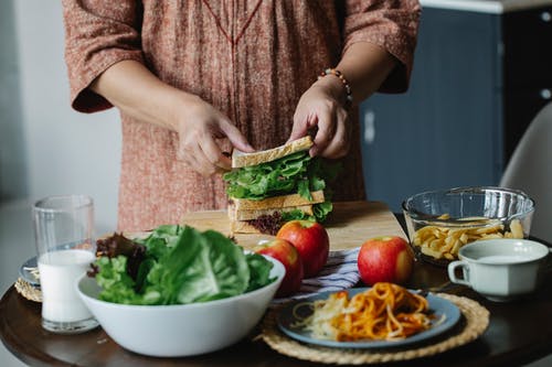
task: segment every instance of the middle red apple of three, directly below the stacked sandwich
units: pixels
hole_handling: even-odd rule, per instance
[[[290,220],[276,234],[294,245],[302,259],[305,278],[315,277],[326,265],[330,252],[330,238],[326,228],[310,220]]]

